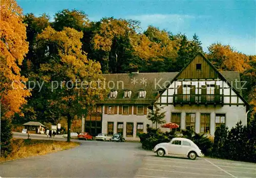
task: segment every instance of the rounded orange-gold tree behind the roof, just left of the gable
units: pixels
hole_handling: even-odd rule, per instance
[[[174,61],[177,57],[176,41],[169,38],[168,32],[153,26],[148,27],[143,34],[131,36],[131,42],[133,54],[139,57],[139,60],[131,61],[130,65],[142,71],[145,70],[145,66],[149,66],[146,70],[152,70],[152,66],[157,66],[154,64]]]

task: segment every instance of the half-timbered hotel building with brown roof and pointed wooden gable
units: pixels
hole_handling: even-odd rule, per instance
[[[229,129],[240,120],[246,124],[249,105],[242,97],[239,72],[218,71],[201,53],[180,72],[103,76],[112,89],[86,117],[85,130],[91,134],[139,139],[147,124],[155,126],[146,117],[152,101],[164,107],[166,122],[197,133],[214,135],[222,123]]]

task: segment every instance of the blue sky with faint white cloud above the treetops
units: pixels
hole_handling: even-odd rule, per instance
[[[195,33],[204,51],[212,43],[229,44],[247,55],[256,54],[256,3],[248,1],[157,1],[157,0],[17,0],[24,13],[50,16],[62,9],[83,10],[90,20],[102,17],[132,18],[174,34]]]

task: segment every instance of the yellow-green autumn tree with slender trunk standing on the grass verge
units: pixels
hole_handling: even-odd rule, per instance
[[[48,27],[37,37],[39,45],[50,50],[46,51],[50,60],[40,65],[40,75],[51,93],[50,105],[68,119],[68,141],[72,118],[103,99],[106,91],[100,84],[100,64],[82,52],[81,38],[82,32],[66,27],[60,32]]]

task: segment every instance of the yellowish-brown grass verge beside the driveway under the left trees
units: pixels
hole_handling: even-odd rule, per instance
[[[80,145],[77,142],[68,143],[54,140],[13,139],[12,141],[13,150],[11,154],[7,158],[0,157],[0,162],[36,155],[46,155],[50,152],[70,149]]]

